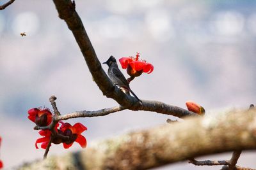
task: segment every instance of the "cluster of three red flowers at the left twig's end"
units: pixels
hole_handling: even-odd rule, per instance
[[[38,126],[47,126],[52,122],[52,113],[48,108],[43,110],[40,110],[40,108],[33,108],[28,111],[28,114],[29,120],[35,122]],[[46,149],[50,139],[52,139],[52,143],[54,144],[63,143],[63,146],[66,149],[72,146],[75,141],[79,143],[82,148],[86,147],[86,138],[84,138],[81,133],[86,131],[87,128],[83,124],[76,123],[72,126],[61,121],[60,123],[61,127],[59,127],[59,123],[54,127],[57,134],[52,135],[52,132],[49,129],[38,132],[43,137],[36,139],[36,149],[38,149],[38,143],[42,143],[41,148]]]

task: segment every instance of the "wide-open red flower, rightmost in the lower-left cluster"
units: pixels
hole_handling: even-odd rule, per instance
[[[63,141],[64,148],[67,149],[72,146],[74,141],[79,143],[82,148],[85,148],[86,138],[84,138],[81,133],[86,130],[87,128],[81,123],[76,123],[73,126],[68,123],[63,123],[60,127],[60,131],[63,132],[64,136],[69,136],[68,140]]]

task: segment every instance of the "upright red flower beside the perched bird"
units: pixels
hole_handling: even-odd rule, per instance
[[[152,73],[154,66],[150,63],[147,63],[145,60],[139,60],[140,53],[136,54],[136,57],[122,57],[119,59],[119,62],[123,69],[127,69],[127,73],[131,77],[140,76],[144,73]]]

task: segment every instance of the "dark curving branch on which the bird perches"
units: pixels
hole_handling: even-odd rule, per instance
[[[56,9],[59,13],[59,17],[68,25],[70,31],[72,31],[74,38],[83,53],[83,57],[86,64],[93,76],[93,80],[97,83],[99,89],[103,92],[104,96],[111,97],[118,104],[129,110],[145,110],[156,111],[158,113],[164,113],[167,115],[174,115],[177,117],[196,115],[195,113],[168,104],[156,102],[156,101],[143,101],[142,104],[137,100],[125,94],[118,87],[114,86],[111,80],[109,80],[107,74],[102,69],[99,59],[95,53],[90,39],[84,29],[83,22],[75,10],[75,5],[70,0],[53,0]],[[73,1],[74,2],[74,1]],[[107,59],[108,57],[106,57]]]

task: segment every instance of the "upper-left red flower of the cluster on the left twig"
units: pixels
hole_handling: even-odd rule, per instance
[[[47,126],[52,122],[52,113],[48,108],[41,110],[40,108],[33,108],[28,110],[28,118],[35,122],[38,126]]]

